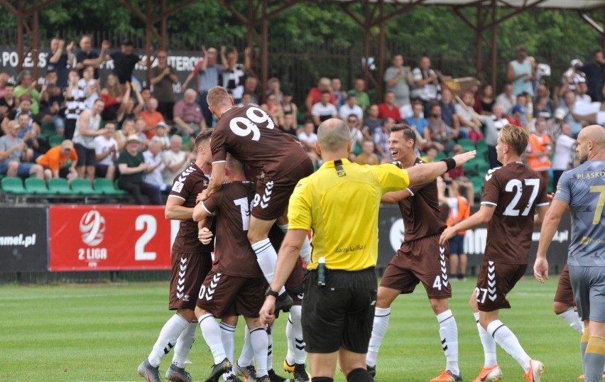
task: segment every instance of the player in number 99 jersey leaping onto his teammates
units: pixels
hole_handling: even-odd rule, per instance
[[[312,174],[313,164],[300,143],[276,129],[265,111],[252,106],[235,107],[224,87],[210,89],[207,100],[219,121],[212,133],[212,178],[202,199],[221,187],[227,153],[251,168],[250,175],[258,180],[248,239],[263,275],[271,283],[277,252],[268,239],[269,230],[275,222],[282,231],[288,230],[288,200],[298,180]],[[307,239],[300,251],[307,263],[309,253]],[[285,288],[281,288],[276,309],[288,310],[292,304]]]

